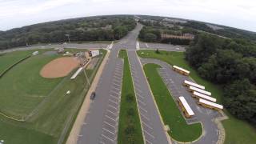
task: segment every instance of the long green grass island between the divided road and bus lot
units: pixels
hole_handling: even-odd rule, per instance
[[[202,126],[200,123],[187,125],[181,111],[166,88],[165,83],[158,74],[158,66],[156,64],[146,64],[143,66],[146,78],[150,84],[150,89],[154,95],[154,99],[158,104],[162,119],[165,125],[170,126],[168,133],[172,138],[179,142],[191,142],[199,138],[202,134]]]

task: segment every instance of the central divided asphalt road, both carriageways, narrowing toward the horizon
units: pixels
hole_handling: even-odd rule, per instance
[[[118,50],[127,49],[131,70],[139,106],[139,114],[142,118],[143,134],[146,143],[167,142],[166,133],[163,130],[160,117],[150,89],[143,77],[142,67],[136,55],[136,39],[142,26],[138,25],[125,38],[115,43],[110,51],[110,57],[102,72],[102,78],[96,89],[96,98],[90,106],[84,125],[78,137],[78,144],[88,143],[117,143],[118,111],[122,84],[123,62],[118,56]],[[135,72],[135,71],[136,72]],[[136,76],[136,74],[138,74]],[[138,79],[136,79],[139,77]],[[137,81],[140,80],[140,83]],[[141,86],[142,89],[138,87]],[[142,90],[142,91],[139,91]],[[144,97],[144,99],[141,99]],[[143,111],[144,110],[144,111]],[[145,117],[143,117],[145,116]]]

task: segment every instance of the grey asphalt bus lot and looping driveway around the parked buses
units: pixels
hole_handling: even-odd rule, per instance
[[[215,144],[218,141],[218,127],[217,124],[213,122],[214,118],[218,118],[221,115],[216,110],[210,110],[202,106],[198,106],[196,99],[191,97],[190,92],[188,92],[187,87],[182,86],[184,80],[192,81],[190,78],[178,74],[171,69],[171,66],[166,62],[162,62],[156,59],[142,58],[142,63],[155,63],[160,65],[162,68],[158,70],[163,81],[166,83],[167,88],[171,91],[172,96],[178,99],[179,96],[184,96],[186,101],[189,103],[192,110],[194,110],[195,116],[193,118],[186,119],[186,122],[191,124],[194,122],[202,122],[203,134],[200,139],[198,139],[198,144]],[[175,142],[173,142],[175,143]]]

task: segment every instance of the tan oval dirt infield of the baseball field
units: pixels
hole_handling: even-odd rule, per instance
[[[78,59],[65,57],[65,58],[56,58],[53,61],[43,66],[40,74],[44,78],[60,78],[65,77],[67,74],[70,74],[74,68],[79,64]]]

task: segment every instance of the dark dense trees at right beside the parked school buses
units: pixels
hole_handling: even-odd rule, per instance
[[[224,89],[224,106],[238,118],[256,124],[256,45],[246,39],[199,34],[186,59],[202,78]]]

